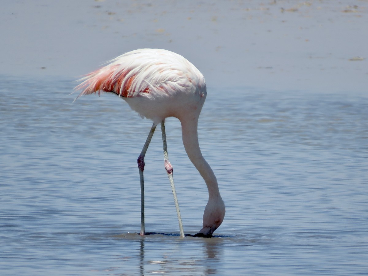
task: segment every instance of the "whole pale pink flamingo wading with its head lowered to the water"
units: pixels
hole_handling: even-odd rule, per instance
[[[199,70],[187,59],[163,49],[138,49],[122,54],[110,63],[79,79],[77,96],[98,92],[112,92],[123,98],[142,118],[153,121],[142,152],[137,159],[141,183],[141,231],[144,236],[144,157],[156,125],[161,124],[164,167],[169,177],[176,206],[180,236],[183,223],[176,196],[173,166],[169,162],[166,145],[165,118],[176,117],[181,123],[185,151],[203,177],[208,188],[208,202],[203,214],[202,229],[197,237],[212,237],[225,216],[225,205],[217,179],[204,159],[198,143],[198,118],[206,99],[206,82]],[[76,100],[75,99],[75,100]],[[191,236],[191,235],[190,235]]]

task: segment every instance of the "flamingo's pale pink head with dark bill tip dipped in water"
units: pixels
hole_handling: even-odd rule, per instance
[[[196,237],[212,237],[212,233],[221,225],[225,217],[225,204],[221,197],[209,199],[203,213],[203,228]]]

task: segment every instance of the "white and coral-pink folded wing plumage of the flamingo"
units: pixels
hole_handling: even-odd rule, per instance
[[[85,75],[74,89],[82,90],[77,98],[96,92],[100,95],[100,91],[114,92],[125,98],[142,93],[167,95],[193,85],[193,76],[203,78],[184,57],[161,49],[139,49],[122,54],[107,66]]]

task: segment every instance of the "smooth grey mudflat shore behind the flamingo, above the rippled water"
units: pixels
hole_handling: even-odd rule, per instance
[[[119,3],[120,2],[120,3]],[[164,48],[211,86],[367,92],[368,1],[10,1],[0,74],[74,79]]]

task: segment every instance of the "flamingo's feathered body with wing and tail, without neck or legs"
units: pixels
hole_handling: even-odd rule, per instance
[[[184,57],[163,49],[122,54],[80,80],[83,82],[75,88],[83,90],[79,96],[116,93],[156,124],[167,117],[179,118],[188,110],[199,116],[206,98],[201,72]]]

